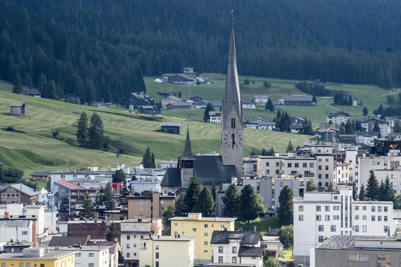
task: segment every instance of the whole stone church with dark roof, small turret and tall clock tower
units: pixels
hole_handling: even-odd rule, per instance
[[[234,28],[231,25],[227,78],[221,107],[220,155],[193,156],[189,130],[186,132],[184,152],[178,157],[177,168],[168,168],[161,186],[162,192],[180,192],[188,188],[192,176],[211,188],[237,182],[243,175],[242,102],[239,93]]]

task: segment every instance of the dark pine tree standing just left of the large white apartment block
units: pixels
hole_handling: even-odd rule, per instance
[[[281,225],[292,225],[294,221],[294,193],[286,185],[278,197],[280,206],[277,208],[277,216]]]

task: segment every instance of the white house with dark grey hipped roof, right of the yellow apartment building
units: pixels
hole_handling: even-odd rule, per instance
[[[261,232],[213,231],[210,244],[213,246],[213,263],[207,266],[253,266],[263,267],[265,250],[260,247]],[[224,265],[222,265],[224,264]],[[249,264],[249,265],[248,265]]]

